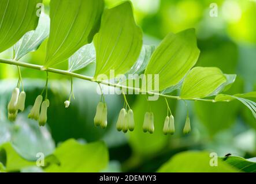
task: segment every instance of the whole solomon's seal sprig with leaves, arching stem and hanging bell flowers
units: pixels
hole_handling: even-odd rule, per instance
[[[13,47],[13,59],[0,58],[0,63],[12,64],[18,68],[18,84],[13,90],[8,108],[8,118],[15,121],[18,111],[25,109],[26,94],[23,88],[20,67],[47,73],[46,86],[35,99],[28,117],[44,126],[50,101],[47,98],[48,73],[66,75],[71,78],[71,93],[64,102],[71,105],[73,78],[114,87],[123,94],[124,108],[120,110],[116,128],[124,133],[136,127],[133,111],[125,94],[143,94],[157,100],[165,98],[167,115],[162,117],[162,131],[165,135],[175,133],[175,117],[167,99],[183,101],[205,101],[209,103],[238,100],[251,110],[256,118],[256,103],[251,101],[256,92],[246,94],[225,94],[235,82],[235,74],[224,74],[216,67],[194,67],[200,51],[196,44],[195,29],[169,33],[161,43],[143,45],[143,32],[136,25],[132,4],[124,1],[112,9],[105,9],[103,0],[51,0],[50,15],[36,16],[36,5],[42,0],[1,0],[0,52]],[[67,7],[69,3],[72,6]],[[16,9],[16,14],[13,14]],[[23,21],[20,21],[23,17]],[[12,23],[12,24],[11,24]],[[47,38],[46,59],[43,66],[21,61],[24,55],[35,51]],[[68,60],[68,70],[53,68]],[[78,74],[77,71],[96,63],[94,76]],[[115,75],[111,75],[111,71]],[[124,76],[120,78],[120,75]],[[127,76],[132,75],[132,82]],[[141,80],[136,83],[136,79]],[[133,86],[135,81],[135,86]],[[136,85],[137,84],[137,85]],[[173,91],[178,95],[171,95]],[[20,92],[21,91],[21,92]],[[152,98],[152,97],[157,98]],[[94,117],[96,127],[107,127],[107,104],[101,91],[101,101]],[[63,103],[63,102],[62,102]],[[95,107],[96,108],[96,107]],[[140,116],[143,116],[140,114]],[[154,114],[150,108],[144,114],[144,132],[154,133]],[[187,113],[184,133],[191,131]]]

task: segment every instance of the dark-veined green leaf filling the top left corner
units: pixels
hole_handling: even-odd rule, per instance
[[[0,1],[0,52],[12,47],[38,25],[36,5],[42,0]]]

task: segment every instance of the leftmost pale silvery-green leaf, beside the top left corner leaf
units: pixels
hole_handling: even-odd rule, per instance
[[[49,36],[50,18],[43,12],[40,15],[38,27],[26,33],[20,41],[14,45],[14,60],[19,60],[28,52],[36,51],[40,44]]]

